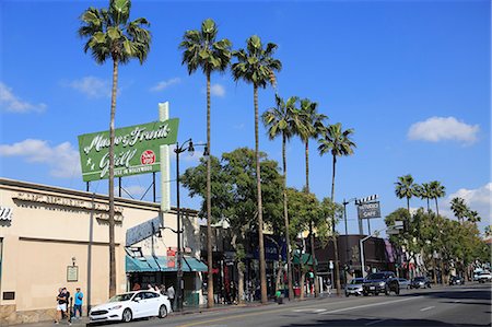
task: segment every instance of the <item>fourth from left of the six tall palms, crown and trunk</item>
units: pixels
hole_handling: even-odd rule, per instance
[[[290,253],[291,237],[289,235],[289,213],[288,213],[288,195],[286,195],[286,154],[285,143],[297,130],[298,115],[295,104],[298,97],[291,96],[286,103],[278,95],[276,95],[277,106],[263,113],[262,120],[266,128],[268,128],[268,137],[273,140],[278,136],[282,136],[282,162],[283,162],[283,219],[285,223],[285,243],[288,244],[286,259],[288,259],[288,281],[289,281],[289,300],[294,299],[294,289],[292,285],[292,259]]]

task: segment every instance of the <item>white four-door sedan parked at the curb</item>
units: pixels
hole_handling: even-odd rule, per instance
[[[166,295],[153,291],[136,291],[118,294],[106,303],[91,308],[91,323],[121,320],[157,316],[164,318],[171,312],[171,302]]]

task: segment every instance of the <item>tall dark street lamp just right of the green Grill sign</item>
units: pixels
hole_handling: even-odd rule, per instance
[[[179,154],[188,151],[191,155],[195,152],[195,145],[204,147],[203,155],[208,155],[209,151],[207,144],[194,144],[191,139],[186,140],[179,145],[179,142],[176,142],[176,148],[174,149],[174,153],[176,153],[176,211],[177,211],[177,279],[176,279],[176,311],[183,310],[183,248],[181,248],[181,217],[180,217],[180,205],[179,205]]]

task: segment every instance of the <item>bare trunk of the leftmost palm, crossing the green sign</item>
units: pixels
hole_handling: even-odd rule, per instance
[[[112,113],[109,118],[109,297],[116,295],[115,254],[115,114],[118,89],[118,59],[113,58]]]

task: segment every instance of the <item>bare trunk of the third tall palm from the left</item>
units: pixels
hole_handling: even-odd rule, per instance
[[[265,261],[263,245],[263,206],[261,202],[261,176],[260,176],[260,157],[259,157],[259,138],[258,138],[258,86],[253,86],[253,96],[255,102],[255,154],[256,154],[256,191],[258,196],[258,246],[259,246],[259,268],[260,268],[260,287],[261,303],[267,304],[267,262]]]

